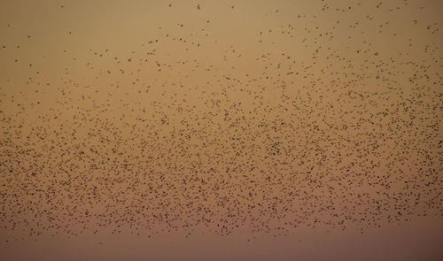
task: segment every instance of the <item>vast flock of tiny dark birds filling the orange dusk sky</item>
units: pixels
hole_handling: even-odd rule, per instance
[[[441,217],[439,42],[387,52],[367,39],[354,50],[336,32],[364,22],[319,27],[315,19],[346,17],[360,4],[335,10],[321,2],[316,15],[257,28],[252,50],[225,44],[206,18],[201,27],[160,26],[126,56],[104,48],[72,58],[66,47],[73,67],[58,79],[45,78],[38,61],[9,59],[27,75],[21,82],[2,74],[0,83],[4,242],[123,227],[187,236],[196,227],[220,235],[283,236],[298,226],[364,233]],[[395,37],[389,21],[363,20],[374,34]],[[416,23],[442,39],[439,24]],[[0,44],[0,57],[23,49]]]

